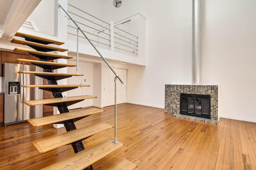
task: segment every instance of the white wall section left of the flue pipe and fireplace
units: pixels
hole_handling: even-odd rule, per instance
[[[106,20],[146,17],[146,67],[128,66],[127,101],[164,108],[165,84],[191,83],[191,1],[130,0],[118,9],[110,2],[102,7]]]

